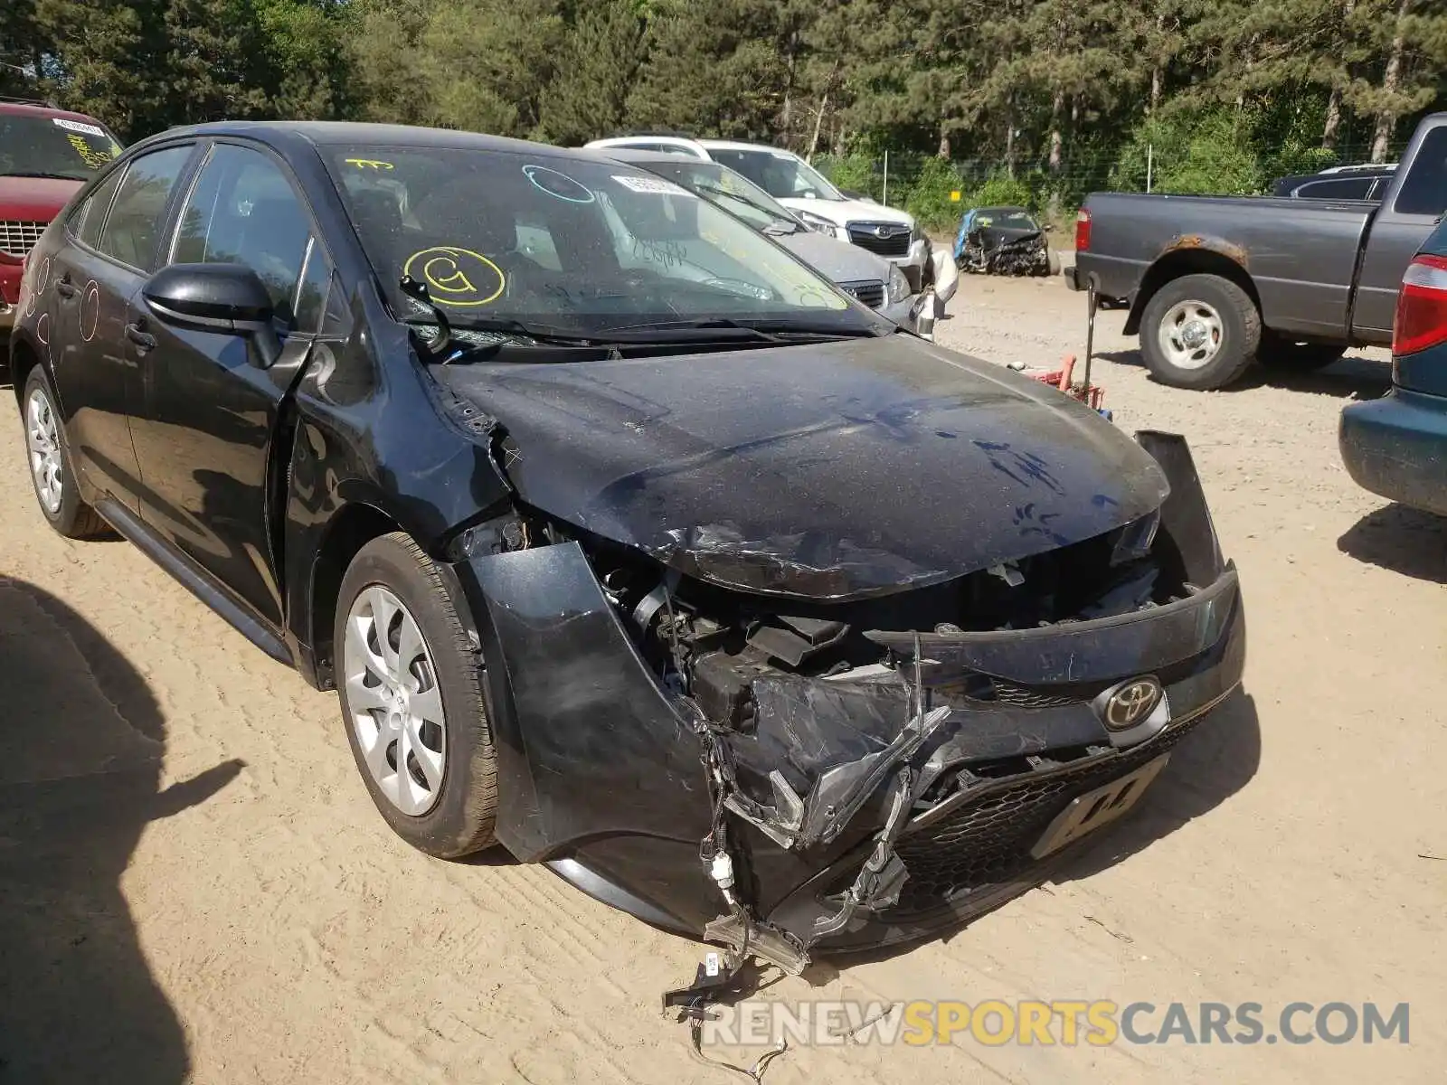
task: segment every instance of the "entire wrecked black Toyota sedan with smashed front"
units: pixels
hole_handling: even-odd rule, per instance
[[[51,524],[336,687],[404,839],[786,968],[1033,884],[1242,676],[1179,437],[587,152],[168,132],[46,230],[13,362]]]

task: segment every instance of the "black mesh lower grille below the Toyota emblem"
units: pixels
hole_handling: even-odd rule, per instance
[[[1003,787],[981,788],[941,820],[903,836],[894,846],[909,881],[893,916],[938,910],[961,894],[975,894],[1017,878],[1037,861],[1030,848],[1075,796],[1140,768],[1176,745],[1205,715],[1078,771],[1042,773]],[[1149,800],[1147,800],[1149,801]]]

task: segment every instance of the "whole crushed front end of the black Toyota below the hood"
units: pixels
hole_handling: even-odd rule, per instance
[[[1158,511],[844,603],[566,528],[466,532],[453,569],[491,661],[499,839],[790,971],[1036,884],[1242,677],[1237,576],[1185,441],[1136,440],[1169,482]],[[687,542],[705,563],[709,540]]]

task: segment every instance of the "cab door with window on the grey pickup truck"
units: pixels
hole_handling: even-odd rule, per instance
[[[1402,273],[1447,210],[1447,124],[1418,133],[1404,168],[1402,184],[1372,220],[1362,256],[1351,330],[1369,341],[1391,341]]]

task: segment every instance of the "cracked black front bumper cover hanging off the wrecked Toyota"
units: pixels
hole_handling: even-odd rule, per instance
[[[784,958],[928,936],[1035,884],[1032,848],[1071,800],[1175,745],[1242,677],[1237,576],[1185,443],[1137,440],[1171,482],[1160,529],[1198,586],[1188,597],[1046,628],[870,634],[896,668],[760,678],[747,733],[658,683],[576,542],[459,560],[489,661],[499,841],[735,948],[741,900],[751,946],[773,939]],[[1103,696],[1140,676],[1163,700],[1107,729]],[[734,901],[699,862],[721,809]]]

